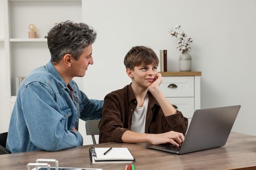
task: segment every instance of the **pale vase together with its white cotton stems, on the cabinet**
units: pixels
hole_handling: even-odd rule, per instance
[[[193,42],[193,40],[186,37],[186,33],[181,29],[181,25],[175,26],[174,29],[169,29],[169,33],[172,37],[176,37],[178,39],[177,48],[181,51],[181,56],[179,57],[179,70],[191,71],[192,57],[188,52],[191,50],[190,43]]]

